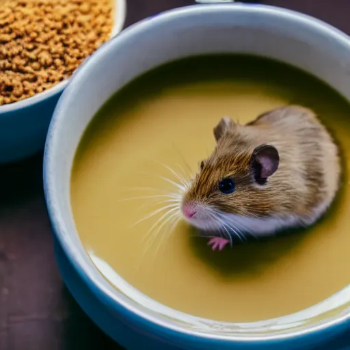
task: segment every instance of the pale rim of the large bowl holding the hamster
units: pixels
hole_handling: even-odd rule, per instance
[[[109,45],[113,45],[115,40],[122,40],[122,38],[127,38],[128,36],[132,36],[133,33],[139,33],[142,31],[142,29],[146,28],[150,23],[154,23],[154,21],[159,21],[159,18],[162,18],[162,20],[166,18],[172,18],[172,16],[178,16],[181,14],[189,14],[191,12],[198,12],[202,11],[204,9],[211,9],[215,12],[215,10],[245,10],[245,11],[252,11],[252,12],[258,12],[260,14],[272,14],[274,16],[280,16],[280,18],[289,18],[293,21],[307,24],[309,27],[313,27],[314,29],[317,29],[318,31],[322,31],[325,33],[329,38],[332,38],[334,40],[338,40],[339,42],[342,42],[349,46],[350,50],[350,38],[337,29],[336,27],[333,27],[332,25],[329,25],[317,18],[314,18],[312,16],[309,16],[307,14],[302,14],[300,12],[294,11],[294,10],[288,10],[284,8],[278,8],[271,5],[260,5],[260,4],[250,4],[250,3],[234,3],[234,4],[196,4],[196,5],[188,5],[182,8],[176,8],[172,10],[167,10],[165,12],[162,12],[161,14],[158,14],[156,16],[152,16],[149,18],[145,18],[142,21],[139,21],[135,23],[134,25],[131,25],[118,36],[118,38],[113,38],[112,40],[109,40],[106,42],[103,47],[98,49],[98,51],[95,51],[92,56],[92,61],[100,55],[103,55],[105,49],[109,47]],[[91,62],[89,62],[90,64]],[[88,65],[88,64],[87,64]],[[79,72],[77,75],[83,75],[85,65],[83,69],[79,69]],[[187,336],[188,338],[192,339],[202,339],[202,340],[213,340],[213,341],[222,341],[222,342],[237,342],[237,343],[258,343],[263,342],[264,344],[267,344],[268,342],[280,342],[282,340],[292,340],[295,338],[305,338],[306,336],[316,336],[317,334],[320,334],[320,332],[324,331],[335,331],[336,327],[340,324],[345,324],[347,321],[350,321],[350,312],[347,311],[346,314],[337,316],[335,319],[330,319],[325,321],[325,323],[313,323],[306,329],[301,330],[295,330],[291,329],[291,332],[284,333],[284,334],[272,334],[267,336],[254,336],[251,338],[245,338],[244,336],[240,337],[237,335],[221,335],[221,334],[212,334],[212,333],[202,333],[198,332],[197,329],[187,329],[185,327],[182,327],[180,325],[175,325],[174,323],[171,323],[171,320],[160,320],[157,319],[157,317],[154,317],[152,314],[150,314],[147,311],[141,310],[138,306],[131,305],[131,302],[129,300],[124,301],[122,300],[117,293],[111,293],[107,290],[107,288],[101,284],[100,282],[96,281],[93,277],[94,272],[92,271],[94,268],[93,262],[89,262],[88,265],[85,265],[81,262],[79,258],[79,253],[77,253],[77,250],[75,249],[75,246],[69,245],[68,241],[64,238],[64,228],[62,226],[62,222],[64,222],[64,215],[62,213],[57,212],[57,205],[55,200],[55,191],[57,191],[54,187],[54,181],[53,181],[53,174],[55,169],[55,161],[51,158],[51,153],[55,152],[55,147],[53,146],[52,139],[57,139],[57,136],[55,136],[55,129],[57,128],[57,124],[59,123],[59,115],[61,114],[60,110],[62,109],[62,105],[64,105],[64,96],[65,94],[69,94],[69,88],[68,87],[62,97],[59,100],[59,103],[57,104],[57,107],[55,109],[55,112],[53,113],[53,118],[51,120],[51,124],[49,127],[49,133],[46,138],[46,145],[44,150],[44,194],[46,198],[46,205],[48,208],[49,216],[51,218],[51,224],[53,226],[53,232],[55,232],[55,237],[57,238],[59,244],[62,246],[62,249],[70,262],[72,263],[72,266],[74,267],[75,271],[79,274],[79,276],[84,280],[84,282],[87,284],[88,288],[90,288],[90,291],[94,293],[94,295],[100,300],[103,301],[104,304],[107,304],[110,308],[113,310],[116,310],[116,312],[122,312],[124,316],[128,317],[129,319],[136,318],[136,321],[143,322],[144,325],[148,327],[158,327],[158,329],[161,329],[163,332],[174,332],[178,336]],[[85,253],[86,254],[86,253]],[[288,315],[290,316],[290,315]],[[287,316],[286,316],[287,317]],[[334,332],[336,334],[336,332]]]

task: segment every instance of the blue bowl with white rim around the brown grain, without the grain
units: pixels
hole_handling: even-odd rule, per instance
[[[114,1],[111,38],[124,27],[126,0]],[[0,106],[0,163],[29,157],[44,148],[53,110],[69,79],[16,103]]]

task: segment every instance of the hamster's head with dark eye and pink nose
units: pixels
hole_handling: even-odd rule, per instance
[[[191,225],[221,230],[232,228],[232,220],[271,215],[269,180],[280,157],[275,147],[256,145],[247,128],[230,118],[222,118],[215,127],[217,146],[183,193],[181,211]]]

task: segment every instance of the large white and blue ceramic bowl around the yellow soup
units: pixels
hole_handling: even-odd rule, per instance
[[[70,172],[96,111],[147,70],[205,53],[272,57],[310,72],[350,99],[349,38],[310,16],[264,5],[193,5],[129,27],[79,68],[49,129],[44,188],[60,270],[87,314],[127,349],[309,349],[348,329],[349,288],[279,319],[239,324],[200,319],[149,299],[118,271],[111,271],[114,288],[87,256],[75,228]],[[327,349],[336,349],[335,343]]]

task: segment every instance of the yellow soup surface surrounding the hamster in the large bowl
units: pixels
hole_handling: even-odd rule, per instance
[[[291,103],[319,113],[347,163],[347,102],[278,62],[193,57],[148,72],[112,96],[87,128],[72,169],[72,211],[87,252],[148,297],[219,321],[280,317],[345,288],[350,279],[347,165],[333,207],[302,232],[212,252],[183,221],[161,224],[167,218],[161,219],[166,213],[161,208],[172,205],[163,195],[176,191],[172,182],[180,183],[167,167],[183,177],[189,169],[195,172],[215,146],[213,127],[221,117],[245,124]],[[107,270],[99,268],[108,279]]]

